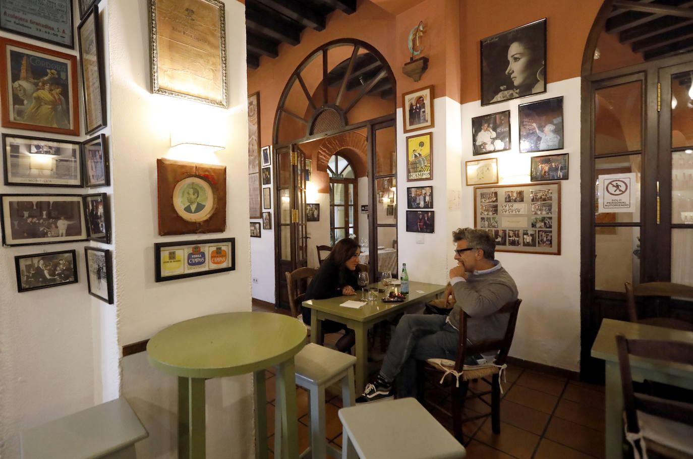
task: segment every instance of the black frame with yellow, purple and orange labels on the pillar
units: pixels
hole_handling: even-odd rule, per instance
[[[156,282],[233,271],[236,238],[159,242],[154,254]]]

